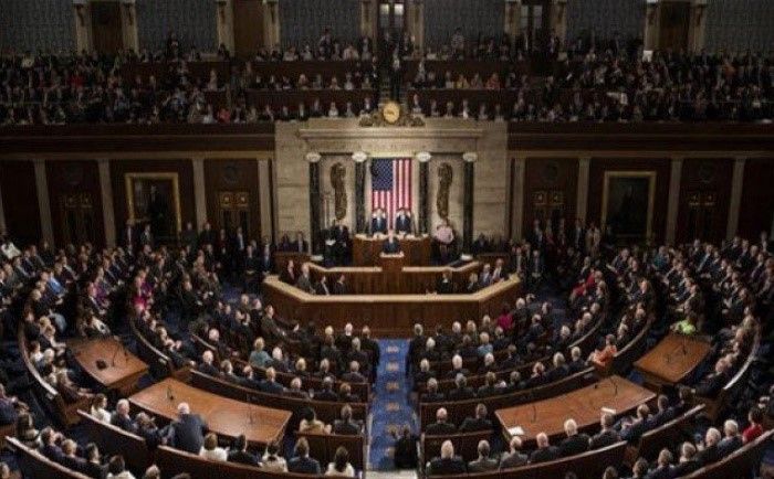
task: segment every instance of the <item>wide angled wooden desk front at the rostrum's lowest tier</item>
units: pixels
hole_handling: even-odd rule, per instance
[[[404,268],[404,276],[407,268]],[[401,279],[402,281],[402,279]],[[480,320],[483,315],[495,318],[503,302],[513,305],[521,292],[521,281],[513,277],[472,295],[343,295],[315,296],[286,285],[276,276],[263,283],[264,304],[289,321],[321,327],[343,328],[352,322],[356,329],[368,324],[375,336],[406,338],[415,322],[426,330],[443,324],[449,330],[454,321]]]

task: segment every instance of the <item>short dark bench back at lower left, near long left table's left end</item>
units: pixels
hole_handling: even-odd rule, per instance
[[[140,436],[103,423],[83,411],[79,411],[77,414],[81,416],[88,439],[100,447],[103,456],[119,454],[124,456],[126,466],[135,471],[144,471],[153,464],[153,453],[148,450],[145,439]]]

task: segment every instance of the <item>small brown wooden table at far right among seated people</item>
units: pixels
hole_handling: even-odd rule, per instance
[[[670,333],[656,348],[635,362],[645,383],[657,390],[681,382],[710,353],[710,343],[684,334]]]

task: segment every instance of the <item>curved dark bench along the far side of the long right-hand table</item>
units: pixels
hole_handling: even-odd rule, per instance
[[[462,423],[462,421],[464,421],[466,417],[473,416],[475,414],[475,406],[478,406],[479,404],[483,404],[489,411],[490,418],[494,419],[494,412],[496,409],[502,409],[517,404],[554,397],[567,393],[569,391],[580,388],[596,381],[597,376],[594,373],[594,369],[588,368],[563,380],[542,386],[533,387],[530,390],[516,391],[511,394],[477,397],[473,400],[457,402],[444,401],[440,403],[420,403],[420,430],[425,430],[428,424],[431,424],[436,421],[436,412],[439,407],[446,407],[447,412],[449,413],[450,421],[459,424]]]

